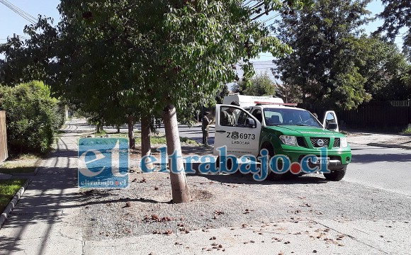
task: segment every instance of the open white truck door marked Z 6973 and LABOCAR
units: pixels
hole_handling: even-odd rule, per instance
[[[241,157],[245,154],[257,156],[261,123],[257,118],[239,106],[215,106],[214,152],[226,146],[227,155]]]

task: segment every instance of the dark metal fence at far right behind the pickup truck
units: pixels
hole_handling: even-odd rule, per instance
[[[322,118],[332,109],[301,106]],[[384,101],[364,103],[356,110],[336,111],[339,123],[346,128],[403,129],[411,123],[410,101]]]

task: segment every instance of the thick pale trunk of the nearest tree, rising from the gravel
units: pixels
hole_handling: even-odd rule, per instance
[[[173,203],[186,203],[190,201],[188,191],[186,172],[184,171],[184,162],[181,155],[181,144],[179,137],[179,127],[177,125],[176,108],[168,105],[164,108],[163,113],[164,128],[166,130],[167,154],[169,154],[169,169],[171,180],[171,192],[173,194]],[[176,153],[174,157],[176,164],[171,164],[170,156]],[[176,167],[176,169],[174,169]]]

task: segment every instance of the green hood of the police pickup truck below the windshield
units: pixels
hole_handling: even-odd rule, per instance
[[[325,128],[315,128],[312,126],[300,126],[300,125],[275,125],[264,127],[266,131],[281,132],[283,135],[303,136],[303,137],[344,137],[340,132],[327,130]]]

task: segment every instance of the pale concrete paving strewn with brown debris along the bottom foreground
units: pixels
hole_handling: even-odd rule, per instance
[[[410,254],[410,230],[410,224],[390,221],[260,222],[188,234],[86,241],[84,254]]]

